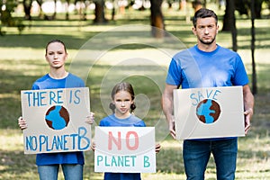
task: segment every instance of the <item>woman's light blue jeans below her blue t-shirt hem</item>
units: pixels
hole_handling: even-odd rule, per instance
[[[83,165],[61,165],[65,180],[82,180]],[[38,166],[40,180],[58,180],[59,165]]]

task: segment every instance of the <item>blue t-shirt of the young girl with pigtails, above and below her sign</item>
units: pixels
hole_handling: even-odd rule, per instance
[[[100,126],[112,127],[146,127],[144,121],[134,115],[126,119],[118,119],[114,113],[103,118],[99,123]],[[140,180],[139,173],[105,173],[104,180]]]

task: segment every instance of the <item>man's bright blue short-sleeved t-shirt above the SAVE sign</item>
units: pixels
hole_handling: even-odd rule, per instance
[[[166,76],[166,84],[182,85],[183,89],[247,83],[247,72],[238,53],[219,45],[211,52],[194,46],[177,53]]]

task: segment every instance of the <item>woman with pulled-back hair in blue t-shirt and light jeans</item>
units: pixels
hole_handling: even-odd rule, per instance
[[[81,78],[65,70],[67,49],[64,42],[61,40],[49,41],[45,58],[49,63],[49,73],[33,83],[33,90],[85,86],[85,82]],[[90,112],[86,122],[91,124],[93,121],[94,113]],[[26,120],[23,120],[22,117],[18,119],[18,123],[21,130],[27,128]],[[62,166],[65,180],[83,179],[85,159],[82,151],[37,154],[36,164],[40,180],[57,180],[59,165]]]

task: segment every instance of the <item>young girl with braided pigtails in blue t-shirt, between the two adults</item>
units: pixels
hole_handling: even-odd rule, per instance
[[[134,91],[129,83],[122,82],[115,85],[112,89],[112,103],[110,108],[112,114],[100,121],[100,126],[121,126],[121,127],[145,127],[144,121],[133,114],[136,108],[134,103]],[[160,145],[156,145],[156,152]],[[139,173],[105,173],[104,180],[139,180]]]

